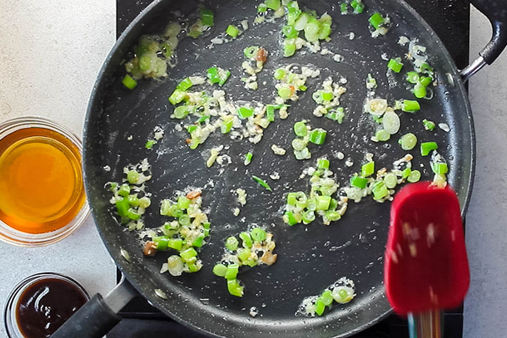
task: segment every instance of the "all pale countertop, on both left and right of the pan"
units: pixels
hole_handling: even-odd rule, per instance
[[[115,0],[0,1],[0,120],[37,115],[81,134],[89,93],[115,42]],[[487,20],[472,10],[471,55],[490,37]],[[465,338],[507,332],[507,53],[470,81],[477,132],[477,174],[467,215],[472,280],[465,300]],[[502,150],[504,149],[504,150]],[[70,254],[72,252],[72,254]],[[27,275],[57,271],[90,293],[115,284],[109,258],[91,218],[63,242],[25,249],[0,242],[0,308]],[[0,336],[5,335],[3,325]]]

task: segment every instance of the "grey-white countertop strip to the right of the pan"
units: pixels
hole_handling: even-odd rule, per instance
[[[470,55],[491,37],[491,27],[472,11]],[[507,331],[507,52],[470,80],[477,133],[477,173],[467,215],[471,283],[465,299],[465,338],[506,337]]]

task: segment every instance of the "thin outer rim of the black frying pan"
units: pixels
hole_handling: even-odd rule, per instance
[[[142,20],[144,20],[144,18],[147,15],[149,15],[158,6],[161,6],[161,4],[163,4],[166,1],[171,1],[171,0],[155,0],[151,4],[149,4],[149,6],[147,6],[141,13],[139,13],[139,15],[137,15],[136,18],[134,18],[134,20],[132,20],[132,23],[130,23],[130,25],[127,26],[125,31],[122,33],[122,35],[117,39],[117,41],[113,45],[111,51],[108,53],[108,56],[104,60],[104,63],[102,64],[101,69],[99,70],[96,81],[94,82],[94,87],[92,89],[92,93],[90,94],[90,97],[89,97],[89,102],[88,102],[88,106],[87,106],[87,113],[86,113],[85,120],[84,120],[83,142],[86,142],[86,140],[89,137],[88,127],[90,125],[90,120],[92,117],[92,113],[94,111],[94,106],[95,106],[96,102],[101,99],[101,94],[99,94],[99,89],[102,85],[104,85],[104,81],[105,81],[104,80],[104,73],[106,73],[106,70],[109,67],[111,67],[111,60],[112,60],[113,56],[115,56],[115,54],[118,53],[118,49],[120,49],[120,47],[125,43],[125,41],[130,39],[130,35],[133,34],[132,31],[134,30],[134,28],[137,27],[137,25],[139,25],[139,23],[142,22]],[[434,39],[434,43],[437,44],[437,46],[439,46],[439,48],[442,51],[442,55],[444,56],[446,61],[448,61],[449,64],[451,65],[451,70],[454,75],[454,78],[456,80],[458,80],[457,86],[459,89],[459,94],[463,98],[465,108],[466,108],[466,115],[467,115],[469,125],[470,125],[470,153],[471,153],[470,154],[470,175],[468,177],[468,184],[466,187],[465,201],[463,203],[463,206],[461,206],[461,216],[462,216],[462,218],[465,218],[465,213],[468,210],[468,206],[470,205],[470,197],[472,194],[472,188],[473,188],[473,184],[474,184],[475,165],[476,165],[475,127],[474,127],[474,121],[473,121],[473,117],[472,117],[472,108],[470,106],[470,101],[468,99],[468,93],[466,92],[464,82],[461,79],[461,76],[459,75],[459,71],[458,71],[458,68],[456,67],[456,63],[453,61],[453,58],[449,54],[448,49],[446,49],[446,46],[444,46],[440,37],[434,32],[432,27],[430,27],[430,25],[423,19],[423,17],[417,11],[415,11],[415,9],[413,9],[409,4],[407,4],[405,0],[395,0],[395,1],[403,8],[403,10],[408,11],[408,13],[413,15],[413,17],[418,21],[418,23],[421,25],[421,27],[423,27],[427,32],[430,33],[430,35],[432,35],[432,38]],[[380,0],[380,2],[383,3],[384,0]],[[86,167],[85,163],[88,162],[87,158],[89,156],[88,155],[89,151],[87,150],[86,146],[83,146],[83,148],[84,148],[83,154],[82,154],[82,157],[83,157],[83,161],[82,161],[83,178],[84,178],[85,190],[88,195],[90,185],[89,185],[87,170],[85,168]],[[225,336],[218,335],[213,332],[208,332],[204,329],[201,329],[200,327],[197,327],[196,325],[183,320],[182,318],[175,315],[174,313],[167,311],[165,306],[163,306],[163,301],[161,299],[157,299],[156,296],[151,296],[148,292],[146,292],[144,290],[144,289],[146,289],[146,287],[143,287],[142,284],[140,282],[138,282],[138,280],[135,277],[132,276],[132,274],[128,271],[128,269],[125,268],[126,265],[122,261],[123,258],[120,257],[116,252],[113,252],[111,245],[108,245],[108,241],[107,241],[106,237],[104,236],[104,232],[101,231],[101,225],[99,225],[99,222],[97,221],[97,217],[94,213],[93,207],[92,207],[92,215],[93,215],[94,222],[96,224],[96,228],[99,231],[99,235],[100,235],[102,241],[104,242],[104,246],[106,246],[108,253],[115,261],[115,265],[120,269],[120,271],[123,273],[123,275],[125,275],[127,280],[134,286],[135,289],[137,289],[138,292],[139,292],[139,290],[141,290],[139,292],[139,294],[141,294],[145,299],[148,299],[150,301],[150,303],[153,303],[154,306],[156,306],[156,308],[158,308],[160,311],[165,313],[165,315],[168,315],[170,318],[173,318],[173,320],[176,320],[178,323],[185,325],[187,327],[190,327],[190,328],[192,328],[192,330],[195,330],[196,332],[199,332],[201,334],[206,334],[210,337],[225,337]],[[363,325],[356,327],[355,330],[351,330],[349,332],[346,332],[346,334],[340,334],[338,336],[334,336],[333,338],[350,337],[353,334],[361,332],[361,331],[367,329],[368,327],[371,327],[371,326],[375,325],[376,323],[379,323],[380,321],[384,320],[384,318],[387,318],[387,316],[389,316],[391,314],[392,314],[392,308],[389,306],[389,308],[387,308],[384,311],[384,313],[382,313],[382,315],[377,316],[377,318],[370,320],[368,323],[364,323]]]

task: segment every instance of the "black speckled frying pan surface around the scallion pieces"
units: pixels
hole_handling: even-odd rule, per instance
[[[149,6],[118,41],[101,70],[89,105],[84,137],[86,188],[97,227],[111,256],[134,287],[161,311],[217,337],[261,337],[264,334],[346,337],[389,313],[382,277],[389,202],[378,204],[370,198],[363,199],[360,204],[351,202],[344,218],[330,226],[315,221],[311,225],[289,227],[282,221],[284,194],[308,191],[308,177],[301,179],[299,176],[303,168],[315,165],[317,158],[327,156],[330,159],[330,169],[343,186],[348,184],[353,173],[361,170],[361,161],[367,152],[375,155],[377,168],[392,168],[392,162],[407,153],[397,144],[398,138],[413,132],[420,142],[439,144],[439,151],[449,163],[449,184],[458,193],[463,209],[470,194],[474,152],[470,107],[456,68],[434,32],[401,1],[365,1],[368,11],[361,15],[340,15],[339,3],[335,1],[299,1],[299,4],[319,14],[332,15],[332,40],[322,46],[340,54],[341,62],[305,49],[291,58],[284,58],[279,34],[284,19],[251,25],[236,41],[210,49],[210,40],[224,32],[227,25],[245,18],[251,23],[256,15],[253,1],[220,0],[206,4],[215,12],[215,26],[211,32],[200,39],[187,37],[180,41],[178,64],[168,70],[169,76],[163,80],[140,80],[130,92],[121,84],[125,70],[120,63],[139,36],[161,32],[177,15],[184,17],[197,8],[197,3],[192,1],[158,1]],[[368,17],[375,11],[391,17],[393,25],[386,37],[370,37]],[[351,32],[354,39],[349,39]],[[420,112],[399,114],[401,130],[398,134],[389,142],[375,143],[370,141],[375,125],[368,114],[363,113],[368,73],[379,84],[375,96],[386,98],[390,103],[397,99],[413,99],[402,75],[389,87],[387,61],[381,57],[386,53],[389,58],[404,58],[407,46],[397,44],[401,35],[418,38],[420,44],[427,46],[439,85],[434,88],[432,100],[420,100]],[[244,75],[241,68],[243,49],[252,45],[263,46],[270,53],[265,69],[258,74],[260,86],[256,91],[244,89],[240,80]],[[253,145],[247,139],[234,141],[215,132],[206,143],[191,150],[184,142],[186,131],[175,130],[180,121],[170,118],[173,106],[168,96],[184,77],[203,76],[213,66],[227,68],[232,76],[222,89],[230,99],[271,104],[275,99],[273,70],[289,63],[318,68],[321,75],[308,80],[308,92],[292,103],[289,118],[272,123],[259,144]],[[405,67],[410,66],[406,61]],[[334,80],[347,79],[347,92],[341,100],[346,107],[342,125],[312,115],[315,102],[311,93],[329,76]],[[422,123],[424,118],[437,124],[446,123],[451,130],[426,131]],[[323,127],[328,131],[325,145],[312,147],[311,160],[296,161],[292,155],[292,125],[299,120],[308,120],[313,128]],[[165,135],[154,149],[146,150],[144,144],[156,126],[162,127]],[[130,136],[131,141],[127,140]],[[206,168],[206,151],[220,144],[230,145],[226,154],[231,156],[232,163]],[[287,149],[287,155],[273,154],[272,144]],[[254,158],[249,166],[244,166],[244,154],[248,151],[253,152]],[[345,160],[332,156],[338,151],[350,158],[351,167],[344,164]],[[409,153],[414,156],[413,164],[423,173],[423,179],[431,180],[429,156],[420,156],[418,148]],[[153,173],[146,184],[147,191],[153,194],[153,205],[146,213],[146,227],[159,227],[167,220],[158,215],[162,199],[173,199],[175,192],[186,187],[206,186],[203,205],[210,211],[211,241],[199,254],[204,263],[199,273],[181,277],[160,274],[161,265],[169,254],[144,258],[137,234],[127,232],[115,220],[109,204],[111,194],[104,189],[104,184],[120,182],[123,167],[143,158],[148,158]],[[103,169],[106,165],[111,171]],[[280,180],[269,180],[269,175],[275,171],[280,174]],[[273,192],[259,187],[251,180],[251,175],[268,180]],[[237,188],[246,189],[248,203],[241,208],[239,217],[234,217],[232,208],[236,206],[236,197],[231,190]],[[268,268],[252,268],[241,273],[239,279],[245,284],[245,295],[237,298],[228,294],[225,280],[213,275],[211,270],[220,261],[225,239],[254,224],[275,234],[278,259]],[[130,253],[130,263],[120,255],[121,249]],[[294,316],[303,298],[319,294],[342,276],[356,282],[357,296],[351,303],[334,306],[321,318]],[[158,298],[155,289],[162,289],[168,299]],[[252,306],[260,313],[256,318],[249,315]]]

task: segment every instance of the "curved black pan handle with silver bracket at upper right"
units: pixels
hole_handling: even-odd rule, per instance
[[[484,65],[491,65],[507,46],[507,0],[471,0],[471,2],[489,19],[493,27],[493,37],[480,51],[480,56],[461,70],[464,81],[481,70]]]

